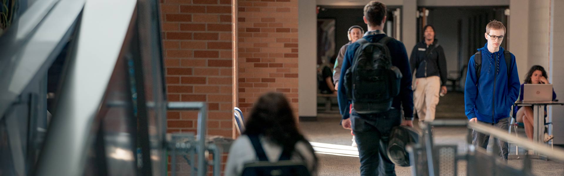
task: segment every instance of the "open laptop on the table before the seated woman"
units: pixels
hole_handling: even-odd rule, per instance
[[[523,102],[552,102],[552,84],[531,84],[523,86]]]

